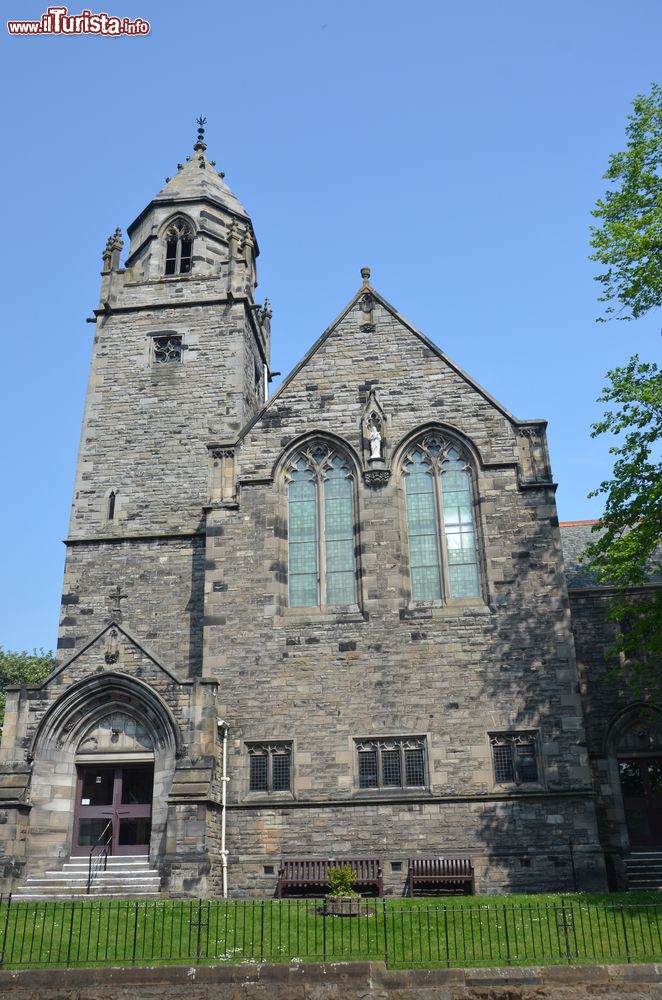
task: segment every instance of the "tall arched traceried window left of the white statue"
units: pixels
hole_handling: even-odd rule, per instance
[[[290,460],[287,479],[290,607],[356,604],[348,460],[327,442],[313,441]]]

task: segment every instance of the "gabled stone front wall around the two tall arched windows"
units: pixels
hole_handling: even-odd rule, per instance
[[[260,871],[284,855],[340,853],[383,857],[396,893],[391,861],[416,854],[475,856],[481,891],[567,888],[571,843],[579,886],[602,888],[553,484],[523,482],[513,418],[386,307],[374,314],[367,335],[351,309],[295,370],[241,441],[238,505],[208,514],[204,661],[230,726],[231,890],[264,891]],[[371,390],[391,472],[378,488],[363,476]],[[483,596],[443,606],[411,601],[399,464],[429,426],[475,462]],[[281,463],[306,433],[355,462],[356,607],[287,604]],[[496,784],[490,733],[527,729],[541,780]],[[424,791],[359,789],[354,741],[378,736],[425,738]],[[249,792],[246,742],[269,740],[292,742],[291,793]]]

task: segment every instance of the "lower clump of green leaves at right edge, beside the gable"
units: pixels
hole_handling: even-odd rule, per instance
[[[599,401],[615,405],[592,436],[613,434],[617,443],[612,478],[590,494],[605,497],[605,510],[587,554],[600,582],[617,588],[610,618],[635,690],[660,697],[662,587],[651,582],[662,583],[662,369],[635,355],[607,374]]]

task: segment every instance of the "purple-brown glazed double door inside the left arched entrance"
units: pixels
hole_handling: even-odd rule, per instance
[[[108,823],[112,854],[149,854],[153,764],[79,764],[71,853],[89,854]]]

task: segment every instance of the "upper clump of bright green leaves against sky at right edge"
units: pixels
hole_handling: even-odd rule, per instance
[[[627,149],[615,153],[604,175],[615,187],[597,202],[591,260],[608,303],[606,318],[637,319],[662,304],[662,87],[633,101]]]

